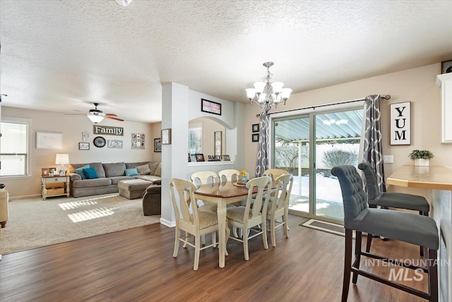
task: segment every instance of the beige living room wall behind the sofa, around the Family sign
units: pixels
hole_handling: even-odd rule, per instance
[[[110,149],[107,146],[97,148],[93,144],[93,123],[85,115],[64,115],[56,112],[40,110],[27,110],[3,106],[1,111],[2,120],[6,117],[20,117],[30,119],[31,127],[29,150],[28,177],[1,178],[8,188],[12,198],[39,195],[41,192],[41,168],[57,167],[55,165],[56,153],[69,153],[71,163],[89,162],[133,162],[153,161],[153,135],[151,124],[138,122],[118,122],[115,120],[103,120],[100,125],[124,127],[124,136],[100,135],[105,139],[122,140],[123,149]],[[63,149],[36,149],[36,132],[56,132],[63,134]],[[90,132],[90,150],[78,150],[78,143],[83,141],[82,132]],[[131,133],[145,134],[145,149],[131,149]]]

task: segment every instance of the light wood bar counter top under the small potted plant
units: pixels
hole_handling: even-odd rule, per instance
[[[402,165],[386,180],[387,185],[452,190],[452,168],[440,165]]]

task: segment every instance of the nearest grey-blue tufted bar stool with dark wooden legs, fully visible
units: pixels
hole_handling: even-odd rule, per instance
[[[367,196],[363,190],[362,179],[357,169],[352,165],[340,165],[331,170],[338,177],[342,190],[344,204],[345,227],[345,263],[342,301],[347,301],[350,287],[350,274],[353,273],[352,282],[356,284],[358,275],[393,286],[410,294],[420,296],[428,301],[438,301],[438,267],[437,250],[439,248],[439,233],[435,221],[423,215],[416,215],[402,211],[388,211],[386,209],[372,209],[367,207]],[[356,231],[355,261],[352,263],[352,235]],[[400,261],[364,252],[361,248],[362,232],[383,236],[393,240],[400,240],[414,245],[424,246],[427,250],[425,262],[427,268],[404,265]],[[372,257],[385,262],[398,263],[409,269],[422,269],[428,274],[429,292],[419,291],[390,281],[383,277],[359,269],[361,255]]]

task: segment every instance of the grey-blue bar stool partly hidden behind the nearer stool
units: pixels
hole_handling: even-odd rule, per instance
[[[419,211],[420,215],[429,216],[430,205],[422,196],[395,192],[380,192],[376,181],[376,172],[370,163],[359,163],[358,168],[364,172],[366,179],[367,203],[370,208],[391,207],[396,209],[408,209]],[[367,234],[366,252],[369,252],[372,242],[372,234]],[[420,247],[421,256],[424,255],[424,248]]]

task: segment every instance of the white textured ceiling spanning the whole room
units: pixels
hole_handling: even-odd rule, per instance
[[[2,105],[161,120],[174,81],[246,102],[452,59],[452,1],[0,0]],[[137,110],[138,108],[138,110]]]

